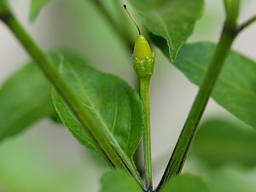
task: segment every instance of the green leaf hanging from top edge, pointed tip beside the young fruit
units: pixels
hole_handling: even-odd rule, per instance
[[[166,39],[171,61],[192,34],[196,20],[201,18],[203,0],[130,0],[143,18],[144,26],[154,35]]]

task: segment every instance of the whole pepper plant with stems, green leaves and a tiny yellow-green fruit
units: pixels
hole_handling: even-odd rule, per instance
[[[32,0],[31,21],[48,2]],[[253,24],[256,16],[238,23],[241,1],[223,0],[225,20],[218,43],[186,44],[196,21],[203,15],[203,0],[127,0],[137,18],[131,16],[126,6],[125,9],[139,32],[137,41],[131,42],[125,31],[115,24],[102,1],[92,2],[129,49],[135,44],[131,65],[137,74],[139,90],[115,75],[96,70],[91,63],[70,51],[58,49],[45,53],[12,14],[9,3],[1,0],[0,19],[26,49],[32,62],[10,77],[0,90],[0,139],[14,136],[47,116],[65,125],[79,143],[99,154],[113,169],[102,177],[101,192],[209,191],[201,177],[182,174],[183,165],[211,96],[237,119],[256,127],[256,65],[231,49],[236,37]],[[119,9],[125,14],[121,5]],[[136,20],[145,27],[144,33]],[[148,42],[150,46],[158,47],[170,63],[199,86],[157,186],[152,182],[149,95],[150,78],[158,63],[154,63],[154,53]],[[24,87],[26,92],[20,89]],[[200,138],[210,139],[215,137],[214,133]],[[247,137],[241,135],[241,139],[242,136]],[[141,140],[143,172],[138,171],[134,160],[135,153],[140,153],[137,148]],[[195,144],[195,147],[201,146]]]

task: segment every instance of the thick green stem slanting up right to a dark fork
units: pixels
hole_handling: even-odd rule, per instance
[[[238,9],[239,6],[236,8]],[[236,13],[238,13],[238,11]],[[212,56],[212,61],[209,64],[207,73],[201,83],[197,96],[195,97],[195,102],[189,112],[189,116],[183,126],[183,131],[178,138],[172,157],[168,162],[166,171],[161,178],[157,190],[160,190],[170,177],[173,177],[182,171],[189,148],[194,140],[197,126],[201,121],[202,114],[204,113],[207,102],[212,94],[218,75],[224,66],[224,61],[230,52],[231,45],[236,38],[236,26],[234,26],[238,16],[236,13],[236,17],[230,16],[232,20],[227,19],[225,21],[223,32],[218,41],[218,46]],[[234,12],[232,12],[232,14],[234,14]],[[231,24],[229,22],[231,22]]]

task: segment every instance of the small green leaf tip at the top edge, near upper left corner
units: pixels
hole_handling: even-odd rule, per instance
[[[33,22],[37,19],[41,9],[49,3],[51,0],[31,0],[29,20]]]

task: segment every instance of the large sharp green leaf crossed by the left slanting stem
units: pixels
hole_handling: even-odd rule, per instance
[[[99,122],[97,128],[108,131],[129,157],[134,154],[143,134],[142,102],[125,81],[90,67],[79,56],[67,52],[60,73],[69,87]],[[80,143],[94,149],[84,128],[55,92],[53,101],[63,123]],[[113,144],[113,143],[112,143]],[[116,144],[116,143],[114,143]]]

